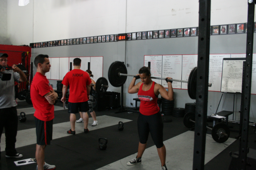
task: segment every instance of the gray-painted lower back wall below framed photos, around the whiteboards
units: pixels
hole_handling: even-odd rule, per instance
[[[103,77],[108,79],[108,68],[114,61],[125,61],[129,74],[137,74],[140,67],[144,65],[144,55],[177,55],[177,54],[197,54],[198,37],[182,37],[168,39],[149,39],[136,41],[105,42],[96,44],[70,45],[61,47],[48,47],[33,49],[33,58],[38,54],[48,54],[50,57],[81,57],[81,56],[103,56]],[[212,35],[210,37],[210,54],[237,54],[245,53],[246,34],[234,35]],[[256,48],[254,41],[254,49]],[[125,56],[126,51],[126,56]],[[255,52],[254,52],[255,53]],[[93,66],[92,66],[93,67]],[[135,106],[133,98],[136,94],[129,94],[128,86],[132,77],[128,77],[124,85],[124,106]],[[139,80],[137,80],[139,82]],[[57,84],[51,80],[50,83]],[[110,85],[108,91],[121,92],[121,87]],[[185,103],[195,102],[188,96],[187,90],[174,89],[175,107],[185,107]],[[208,115],[216,112],[221,92],[209,92]],[[233,111],[233,94],[223,94],[218,112],[221,110]],[[256,107],[253,105],[256,95],[251,95],[250,121],[256,122]],[[235,116],[239,120],[241,95],[235,95]],[[229,119],[232,119],[230,116]]]

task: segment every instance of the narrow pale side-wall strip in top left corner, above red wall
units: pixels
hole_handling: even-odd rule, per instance
[[[0,44],[7,42],[7,0],[0,0]]]

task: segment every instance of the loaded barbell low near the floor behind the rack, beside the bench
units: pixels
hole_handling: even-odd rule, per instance
[[[193,112],[188,112],[183,119],[183,123],[187,128],[192,128],[195,126],[196,114]],[[230,135],[230,130],[228,125],[225,123],[218,123],[213,128],[206,126],[206,128],[212,130],[212,138],[218,143],[226,142]]]

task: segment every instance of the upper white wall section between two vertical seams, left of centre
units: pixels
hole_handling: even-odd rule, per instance
[[[125,0],[35,1],[35,42],[125,32]]]

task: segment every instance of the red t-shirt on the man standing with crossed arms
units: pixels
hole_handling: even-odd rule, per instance
[[[50,89],[52,90],[52,86],[46,76],[36,72],[30,87],[30,97],[36,109],[34,116],[41,121],[51,121],[54,118],[54,105],[44,97]]]

